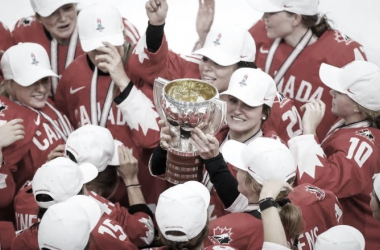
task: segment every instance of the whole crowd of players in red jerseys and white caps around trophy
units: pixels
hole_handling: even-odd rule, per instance
[[[213,25],[214,1],[191,55],[168,46],[166,0],[141,37],[80,0],[0,25],[0,249],[379,248],[380,68],[318,0],[247,0],[249,30]],[[213,86],[221,128],[165,119],[158,78]]]

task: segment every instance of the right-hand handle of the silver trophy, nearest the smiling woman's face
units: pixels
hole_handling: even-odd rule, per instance
[[[213,103],[215,109],[212,115],[213,117],[210,120],[210,125],[204,132],[216,135],[220,131],[220,129],[225,124],[227,124],[227,121],[226,121],[227,103],[217,98],[211,99],[210,102]]]

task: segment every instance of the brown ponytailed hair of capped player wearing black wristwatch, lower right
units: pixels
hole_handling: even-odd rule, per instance
[[[295,181],[296,177],[290,178],[287,182],[292,184]],[[245,176],[245,183],[249,184],[253,191],[256,193],[261,192],[262,185],[258,183],[248,172]],[[284,200],[289,194],[289,191],[282,191],[276,197],[276,201]],[[287,237],[293,239],[294,242],[298,241],[299,235],[303,231],[303,220],[302,220],[302,212],[298,206],[293,205],[292,203],[286,203],[281,207],[281,211],[279,212],[281,222],[284,226],[285,233]],[[296,247],[296,246],[294,246]],[[296,248],[294,248],[296,249]]]

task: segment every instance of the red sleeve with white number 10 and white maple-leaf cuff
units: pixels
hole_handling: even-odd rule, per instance
[[[289,141],[298,164],[298,184],[312,183],[345,198],[362,193],[372,182],[379,162],[377,146],[350,131],[340,132],[333,145],[324,143],[324,148],[330,150],[327,156],[314,135]]]

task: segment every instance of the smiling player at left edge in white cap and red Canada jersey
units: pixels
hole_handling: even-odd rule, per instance
[[[23,139],[2,149],[0,217],[13,220],[14,212],[7,215],[4,209],[11,205],[15,191],[33,178],[52,149],[65,143],[72,126],[48,100],[50,79],[57,75],[41,45],[12,46],[4,53],[1,67],[5,80],[0,90],[0,122],[22,118],[25,131]]]

